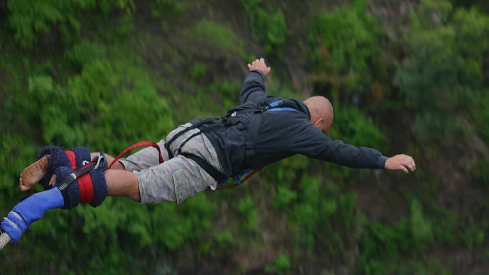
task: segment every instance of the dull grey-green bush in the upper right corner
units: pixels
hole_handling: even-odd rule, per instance
[[[482,56],[489,45],[489,17],[457,10],[447,22],[446,1],[422,1],[413,15],[411,56],[395,84],[417,110],[413,130],[425,139],[444,139],[454,115],[473,105],[482,80]],[[436,19],[439,18],[439,21]]]

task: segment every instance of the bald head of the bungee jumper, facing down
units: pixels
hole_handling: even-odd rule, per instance
[[[324,96],[312,96],[304,101],[311,113],[311,123],[321,131],[327,130],[333,124],[333,106]]]

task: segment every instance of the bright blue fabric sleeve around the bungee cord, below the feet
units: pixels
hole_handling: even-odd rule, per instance
[[[39,220],[49,209],[61,208],[64,205],[60,190],[53,188],[36,193],[18,203],[1,222],[1,229],[7,233],[13,243],[19,241],[27,226]]]

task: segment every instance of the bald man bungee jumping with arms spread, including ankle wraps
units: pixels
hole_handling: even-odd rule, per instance
[[[371,148],[331,140],[323,133],[333,123],[333,108],[328,99],[314,96],[301,102],[268,95],[264,77],[271,69],[264,59],[253,61],[248,68],[250,73],[239,95],[240,105],[221,119],[198,118],[170,132],[166,143],[164,140],[158,143],[160,148],[166,148],[161,152],[163,163],[159,161],[157,149],[145,148],[127,159],[120,159],[105,172],[94,169],[87,174],[75,174],[74,171],[81,170],[90,159],[98,160],[98,168],[103,158],[98,153],[90,155],[85,148],[72,151],[53,146],[43,148],[39,160],[22,171],[19,187],[26,191],[39,181],[47,190],[52,186],[60,190],[54,188],[55,191],[46,195],[38,193],[41,202],[35,198],[31,202],[21,202],[2,222],[2,229],[10,235],[13,229],[9,226],[15,229],[16,224],[22,225],[22,222],[30,225],[41,218],[45,210],[71,209],[79,202],[97,206],[106,195],[125,196],[141,203],[176,201],[180,204],[208,187],[215,190],[222,178],[294,154],[354,168],[406,173],[416,169],[410,156],[401,154],[387,158]],[[111,156],[102,156],[109,163],[113,160]],[[92,164],[95,166],[95,162]],[[60,188],[67,182],[74,184],[66,190]],[[29,217],[35,204],[44,212]],[[22,234],[25,228],[15,230]]]

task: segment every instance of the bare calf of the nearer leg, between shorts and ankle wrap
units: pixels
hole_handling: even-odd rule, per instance
[[[134,201],[141,202],[139,180],[137,179],[136,174],[128,171],[110,169],[105,171],[105,181],[107,182],[107,188],[109,189],[109,196],[124,196]]]

